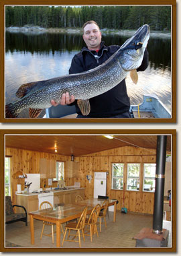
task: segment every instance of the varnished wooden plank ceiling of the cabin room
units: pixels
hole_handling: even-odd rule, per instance
[[[20,148],[65,156],[82,156],[123,146],[138,146],[156,149],[157,135],[114,135],[107,139],[103,135],[5,135],[7,148]],[[167,150],[171,152],[171,136],[168,135]]]

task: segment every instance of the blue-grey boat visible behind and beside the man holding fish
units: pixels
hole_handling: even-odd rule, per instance
[[[158,98],[158,96],[145,95],[143,94],[143,101],[141,104],[131,105],[129,109],[131,118],[136,119],[148,119],[148,118],[171,118],[171,113],[163,102]],[[76,118],[76,108],[74,105],[58,105],[46,108],[46,115],[44,118],[66,118],[74,119]]]

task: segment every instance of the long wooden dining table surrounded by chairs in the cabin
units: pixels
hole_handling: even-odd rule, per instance
[[[46,222],[56,224],[56,247],[60,247],[61,225],[70,220],[80,218],[85,207],[87,207],[87,214],[91,214],[93,207],[95,207],[97,203],[101,204],[103,201],[103,199],[86,199],[78,203],[67,203],[63,205],[60,204],[45,210],[29,212],[31,244],[34,245],[35,243],[34,220],[44,220]],[[117,200],[109,199],[109,206],[115,205],[113,218],[114,222],[116,220],[116,203]]]

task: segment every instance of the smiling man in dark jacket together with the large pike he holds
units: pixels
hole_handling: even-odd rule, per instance
[[[37,118],[57,104],[75,104],[78,118],[130,117],[125,77],[130,73],[136,84],[137,71],[148,66],[149,26],[141,26],[121,46],[105,46],[94,21],[83,29],[86,47],[72,59],[69,75],[22,84],[15,94],[19,99],[5,105],[6,118],[18,117],[24,108]]]

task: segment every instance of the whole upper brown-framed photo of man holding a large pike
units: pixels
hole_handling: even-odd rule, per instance
[[[176,0],[3,0],[0,19],[2,123],[176,123]]]

